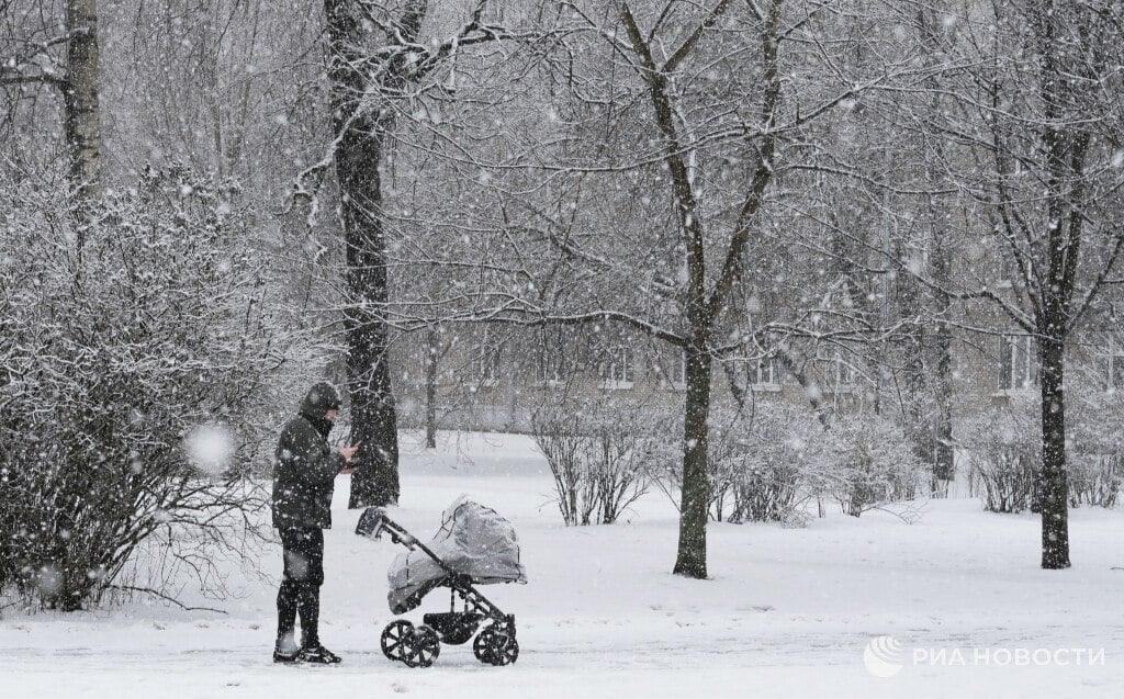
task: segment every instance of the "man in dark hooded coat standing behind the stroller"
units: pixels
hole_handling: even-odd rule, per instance
[[[273,467],[273,526],[284,547],[284,572],[278,591],[278,639],[273,661],[333,664],[341,661],[318,635],[320,584],[324,582],[324,529],[332,527],[335,478],[347,466],[356,446],[328,445],[339,394],[330,383],[317,383],[300,405],[300,414],[281,430]],[[300,614],[301,644],[294,628]]]

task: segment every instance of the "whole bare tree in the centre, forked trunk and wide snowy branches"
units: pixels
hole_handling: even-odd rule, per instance
[[[821,40],[845,15],[833,6],[552,4],[540,53],[475,74],[475,118],[443,114],[411,143],[475,182],[438,205],[417,240],[415,262],[459,280],[428,312],[451,324],[618,325],[685,353],[679,574],[707,575],[713,367],[750,342],[732,300],[759,264],[753,238],[770,225],[771,188],[782,176],[797,185],[823,152],[806,140],[810,124],[904,70],[852,72],[846,51],[872,34],[845,27]],[[513,74],[525,85],[516,93]],[[800,312],[814,315],[808,307]],[[420,325],[408,300],[392,311]]]

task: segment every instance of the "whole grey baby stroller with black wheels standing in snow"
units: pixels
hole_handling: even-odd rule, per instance
[[[387,572],[390,611],[405,614],[436,588],[450,589],[447,612],[426,614],[420,626],[406,619],[388,624],[382,630],[383,655],[410,668],[428,668],[441,654],[442,643],[461,645],[475,636],[472,652],[484,664],[508,665],[519,657],[515,616],[504,614],[473,587],[527,582],[519,563],[518,538],[508,520],[462,496],[445,510],[441,529],[428,544],[378,507],[368,508],[355,527],[355,534],[373,539],[381,538],[383,532],[409,550],[399,554]],[[462,601],[460,611],[457,598]]]

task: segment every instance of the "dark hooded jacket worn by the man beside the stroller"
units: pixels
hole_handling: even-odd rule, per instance
[[[333,409],[339,409],[339,394],[330,383],[317,383],[300,414],[281,429],[273,465],[274,527],[332,527],[332,491],[346,465],[327,442],[332,421],[324,414]]]

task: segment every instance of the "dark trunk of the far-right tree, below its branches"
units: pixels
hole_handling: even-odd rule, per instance
[[[1064,342],[1043,336],[1042,357],[1042,469],[1037,476],[1042,511],[1042,568],[1069,568],[1069,483],[1066,469]]]

